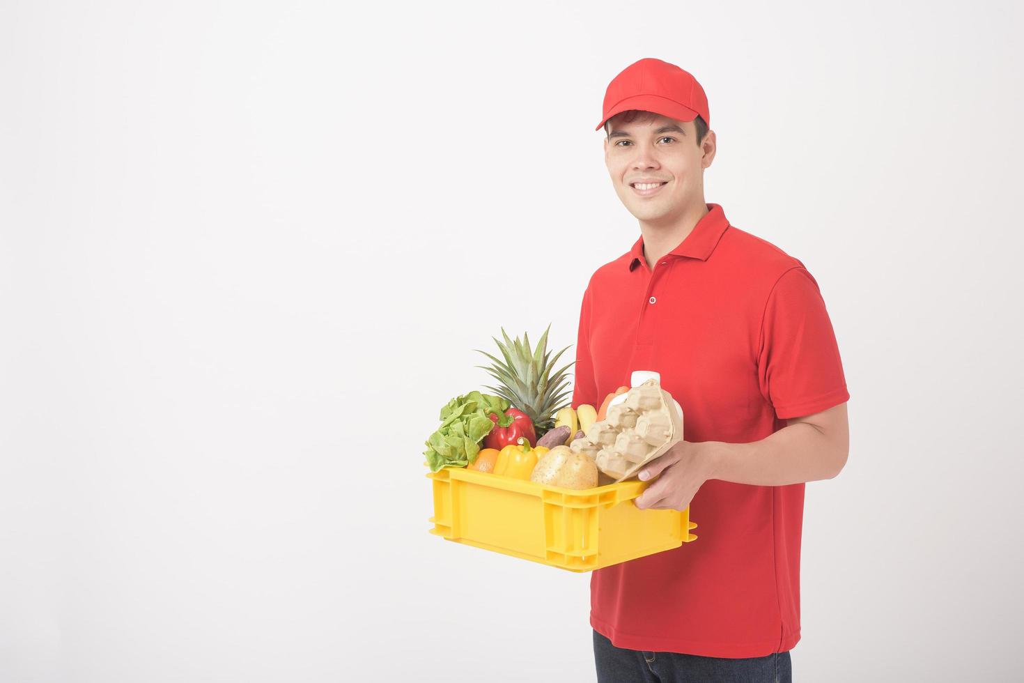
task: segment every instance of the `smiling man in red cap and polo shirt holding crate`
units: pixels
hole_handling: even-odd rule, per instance
[[[788,681],[800,640],[804,482],[849,451],[846,379],[804,264],[706,204],[708,99],[645,58],[608,85],[604,159],[640,238],[584,293],[572,407],[660,373],[683,439],[640,473],[641,509],[691,507],[699,538],[591,577],[598,680]]]

